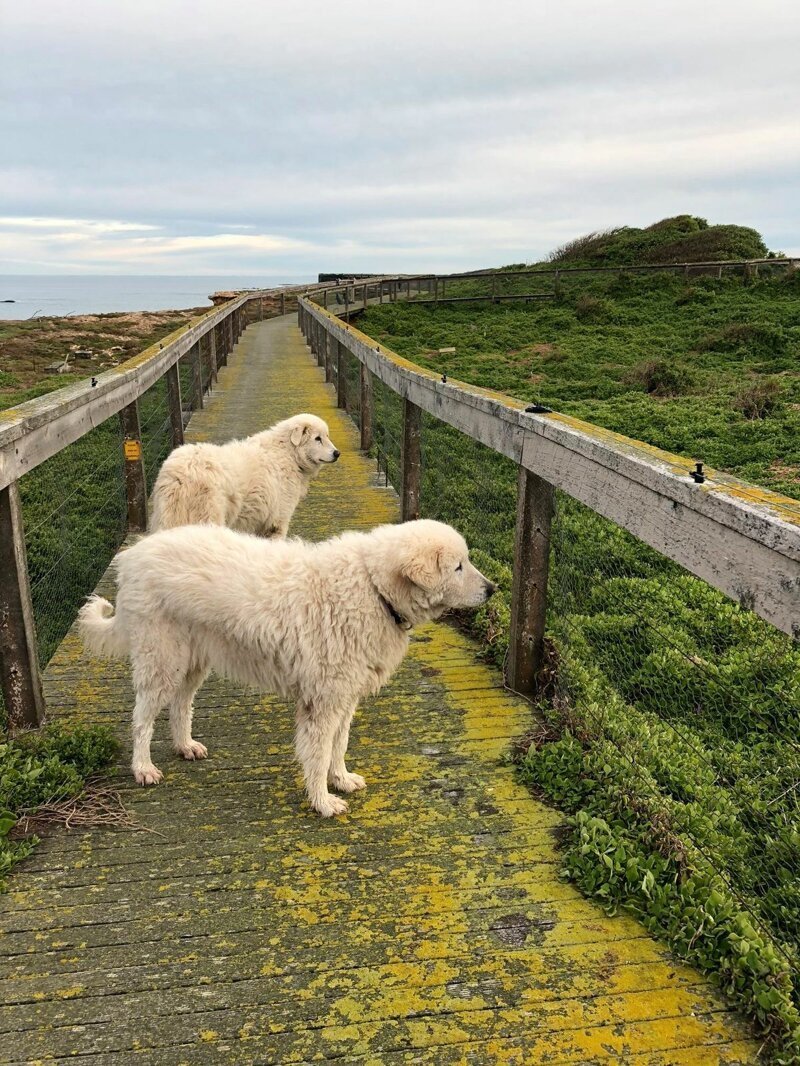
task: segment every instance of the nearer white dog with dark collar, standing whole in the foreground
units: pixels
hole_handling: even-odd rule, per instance
[[[350,722],[400,665],[409,631],[495,591],[463,537],[427,519],[320,544],[187,526],[140,540],[116,569],[116,612],[95,596],[79,618],[94,652],[131,661],[135,779],[161,780],[150,739],[162,707],[175,750],[206,757],[192,739],[192,700],[213,669],[295,699],[297,756],[325,817],[348,809],[329,784],[365,787],[345,765]]]

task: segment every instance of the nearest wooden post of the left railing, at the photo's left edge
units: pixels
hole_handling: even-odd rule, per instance
[[[9,731],[45,718],[19,486],[0,490],[0,688]]]

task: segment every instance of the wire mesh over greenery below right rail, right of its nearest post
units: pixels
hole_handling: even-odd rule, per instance
[[[608,766],[797,966],[800,649],[614,523],[558,494],[550,715]]]

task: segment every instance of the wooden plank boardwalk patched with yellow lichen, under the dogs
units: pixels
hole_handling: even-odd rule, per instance
[[[190,437],[300,410],[342,458],[293,532],[395,520],[292,319],[247,329]],[[127,668],[70,633],[46,687],[51,714],[109,723],[127,761]],[[562,818],[502,761],[527,706],[453,629],[417,632],[358,712],[349,764],[369,787],[343,819],[305,807],[283,700],[211,680],[196,718],[208,761],[173,756],[164,718],[165,782],[119,768],[154,833],[53,834],[0,899],[0,1062],[755,1062],[704,979],[560,879]]]

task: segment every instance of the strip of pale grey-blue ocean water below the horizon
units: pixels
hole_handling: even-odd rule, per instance
[[[0,319],[210,307],[218,289],[271,289],[316,277],[291,275],[0,274]],[[13,304],[3,303],[13,300]]]

